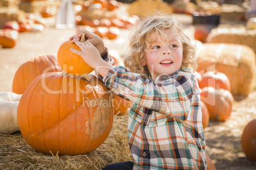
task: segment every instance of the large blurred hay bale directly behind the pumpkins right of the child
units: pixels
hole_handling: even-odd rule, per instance
[[[197,72],[222,72],[231,82],[232,95],[248,96],[253,91],[255,53],[240,44],[206,43],[199,49]]]

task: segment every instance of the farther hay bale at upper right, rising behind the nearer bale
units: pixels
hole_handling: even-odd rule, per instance
[[[212,29],[206,42],[244,44],[252,48],[256,54],[256,30],[247,30],[245,27]]]

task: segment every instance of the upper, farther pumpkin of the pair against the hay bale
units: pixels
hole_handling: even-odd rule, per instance
[[[226,89],[231,91],[231,82],[227,75],[222,72],[206,72],[199,79],[199,88],[213,87],[215,89]]]

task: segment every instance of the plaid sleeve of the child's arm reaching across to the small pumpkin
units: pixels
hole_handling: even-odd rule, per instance
[[[176,72],[165,81],[142,79],[122,66],[113,66],[104,77],[105,85],[135,105],[142,105],[166,116],[186,120],[193,95],[199,95],[196,77],[186,72]]]

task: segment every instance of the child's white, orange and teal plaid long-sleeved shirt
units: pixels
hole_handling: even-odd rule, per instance
[[[193,74],[178,70],[152,81],[113,66],[103,81],[132,101],[128,140],[133,169],[206,169],[199,87]]]

